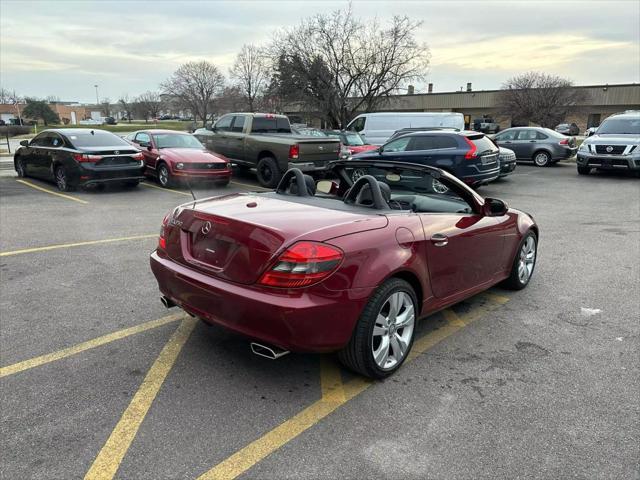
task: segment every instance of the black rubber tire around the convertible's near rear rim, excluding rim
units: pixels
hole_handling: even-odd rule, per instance
[[[390,297],[396,293],[406,293],[413,303],[413,324],[410,332],[411,339],[407,343],[404,356],[388,369],[382,369],[375,361],[373,355],[374,339],[373,329],[376,326],[376,318],[387,304]],[[367,305],[364,307],[358,323],[356,323],[349,343],[338,353],[340,361],[349,369],[366,377],[381,379],[396,372],[404,363],[411,352],[415,337],[415,326],[418,315],[418,301],[416,294],[406,281],[400,278],[390,278],[373,293]],[[408,332],[409,333],[409,332]]]

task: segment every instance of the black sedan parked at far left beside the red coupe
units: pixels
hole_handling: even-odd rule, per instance
[[[63,192],[108,182],[133,187],[144,180],[142,153],[104,130],[44,130],[20,145],[14,156],[18,176],[53,180]]]

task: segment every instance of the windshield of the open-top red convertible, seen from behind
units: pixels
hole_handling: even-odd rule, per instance
[[[371,175],[378,182],[389,185],[395,210],[412,210],[422,213],[473,213],[469,203],[448,188],[430,171],[396,166],[345,166],[345,173],[352,180]]]

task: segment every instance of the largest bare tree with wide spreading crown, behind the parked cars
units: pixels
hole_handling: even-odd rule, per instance
[[[429,49],[421,23],[393,17],[383,27],[363,22],[351,7],[305,19],[276,35],[270,48],[281,95],[304,101],[334,127],[372,111],[409,82],[424,78]]]

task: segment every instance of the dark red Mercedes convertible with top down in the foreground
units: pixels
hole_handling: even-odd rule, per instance
[[[365,172],[355,183],[354,167]],[[275,191],[168,213],[151,255],[165,306],[253,339],[260,355],[337,350],[383,378],[407,358],[420,317],[500,282],[528,284],[529,214],[433,167],[351,160],[332,171],[337,180],[316,185],[289,170]]]

